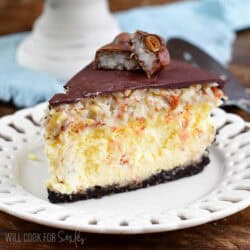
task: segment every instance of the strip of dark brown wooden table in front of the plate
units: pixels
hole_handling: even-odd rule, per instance
[[[5,213],[0,213],[0,249],[74,249],[76,244],[86,249],[250,249],[250,209],[237,213],[225,219],[208,223],[202,226],[178,230],[173,232],[147,235],[100,235],[78,233],[67,230],[53,229],[17,219]],[[22,239],[18,243],[6,242],[6,234],[18,233]],[[75,235],[84,240],[76,242],[62,242],[61,237],[55,237],[53,243],[24,242],[27,233],[52,233]]]

